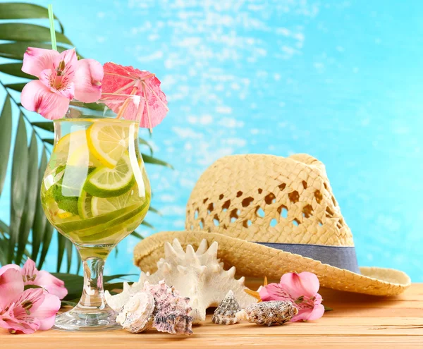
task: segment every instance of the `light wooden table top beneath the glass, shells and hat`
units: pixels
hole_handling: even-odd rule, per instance
[[[255,288],[257,289],[257,287]],[[0,349],[62,348],[423,348],[423,283],[403,295],[376,298],[321,290],[324,304],[333,311],[315,322],[264,327],[243,322],[215,325],[211,315],[194,326],[189,337],[158,333],[154,329],[133,334],[125,331],[77,333],[39,331],[11,335],[0,330]]]

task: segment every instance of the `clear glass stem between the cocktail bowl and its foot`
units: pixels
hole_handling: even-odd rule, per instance
[[[104,301],[103,269],[105,260],[99,257],[88,257],[82,260],[84,268],[84,289],[79,306],[85,309],[106,307]]]

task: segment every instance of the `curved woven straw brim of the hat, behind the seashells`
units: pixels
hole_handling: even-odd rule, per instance
[[[301,255],[204,231],[166,231],[151,235],[135,246],[135,265],[145,272],[156,271],[157,261],[164,257],[164,244],[175,238],[184,249],[187,245],[197,248],[202,239],[209,245],[216,241],[219,245],[217,257],[226,267],[234,266],[236,273],[245,277],[278,279],[288,272],[310,271],[317,275],[322,287],[384,296],[399,295],[411,284],[410,277],[403,271],[360,267],[361,274],[356,274]]]

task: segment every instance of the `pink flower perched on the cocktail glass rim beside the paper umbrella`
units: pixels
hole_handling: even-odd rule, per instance
[[[97,102],[102,95],[103,67],[94,59],[78,61],[75,49],[59,54],[51,49],[28,47],[23,55],[22,71],[39,80],[23,87],[20,102],[29,111],[44,118],[61,118],[69,102]]]

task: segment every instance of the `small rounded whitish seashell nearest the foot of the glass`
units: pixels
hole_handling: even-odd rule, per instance
[[[121,312],[116,317],[116,322],[122,328],[132,333],[141,333],[152,324],[154,312],[154,298],[151,293],[137,292],[125,302]]]

